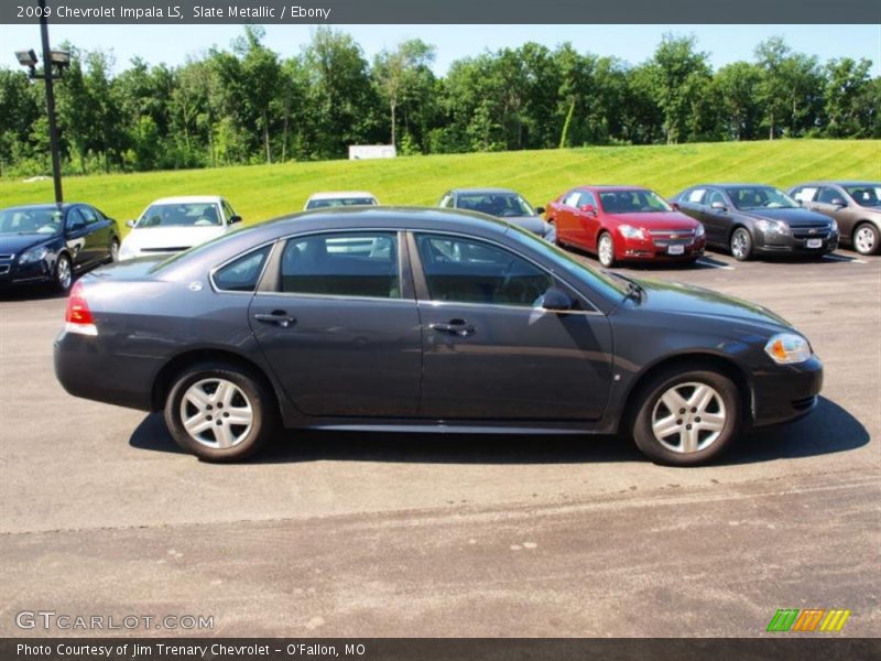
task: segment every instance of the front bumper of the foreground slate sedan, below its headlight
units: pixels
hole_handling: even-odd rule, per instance
[[[755,372],[752,383],[752,425],[797,420],[817,405],[823,388],[823,362],[812,356],[798,365],[780,365]]]

